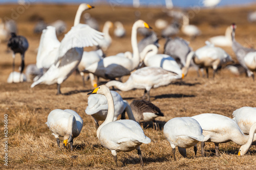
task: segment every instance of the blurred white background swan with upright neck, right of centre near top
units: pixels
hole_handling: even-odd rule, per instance
[[[183,15],[183,23],[181,26],[181,31],[191,37],[192,39],[194,39],[196,36],[201,35],[201,31],[198,29],[197,26],[195,25],[189,25],[189,18],[186,15]]]

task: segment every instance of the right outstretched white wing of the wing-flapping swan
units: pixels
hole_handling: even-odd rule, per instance
[[[79,23],[72,27],[60,42],[58,57],[55,61],[63,57],[71,48],[98,45],[98,41],[102,38],[103,33]]]

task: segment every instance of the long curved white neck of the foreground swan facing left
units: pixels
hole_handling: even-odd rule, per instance
[[[99,128],[97,129],[97,137],[99,138],[99,132],[100,129],[110,123],[113,122],[114,119],[114,115],[115,115],[115,107],[114,107],[114,100],[113,100],[113,96],[110,92],[109,89],[106,89],[104,96],[106,97],[106,101],[108,102],[109,108],[108,108],[108,115],[106,115],[106,119],[105,121],[99,126]]]

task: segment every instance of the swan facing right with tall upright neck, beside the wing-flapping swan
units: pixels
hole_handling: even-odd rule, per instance
[[[124,75],[129,75],[131,71],[138,67],[140,57],[137,45],[137,29],[150,28],[143,20],[137,20],[132,28],[133,55],[125,52],[124,55],[105,57],[97,63],[90,65],[84,72],[92,72],[94,75],[104,79],[114,80]],[[125,56],[125,57],[123,57]]]

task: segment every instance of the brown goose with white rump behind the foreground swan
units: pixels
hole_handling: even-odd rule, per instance
[[[156,129],[158,129],[155,118],[157,118],[158,116],[164,116],[164,115],[156,105],[154,105],[150,101],[134,100],[130,106],[133,111],[133,115],[136,119],[136,122],[153,121],[153,128],[155,126]]]

